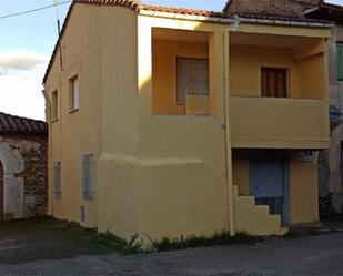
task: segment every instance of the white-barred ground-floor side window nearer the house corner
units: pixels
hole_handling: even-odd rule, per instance
[[[83,200],[93,200],[93,171],[94,171],[94,161],[93,154],[83,154],[82,155],[82,197]]]

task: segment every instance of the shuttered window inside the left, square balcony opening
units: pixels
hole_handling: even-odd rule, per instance
[[[178,104],[184,104],[186,95],[209,95],[209,60],[178,58]]]

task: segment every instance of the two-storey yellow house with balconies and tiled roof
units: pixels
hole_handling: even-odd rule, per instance
[[[157,239],[317,222],[330,28],[73,1],[43,80],[50,214]]]

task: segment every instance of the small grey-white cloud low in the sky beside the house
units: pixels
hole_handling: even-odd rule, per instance
[[[12,71],[36,71],[44,68],[48,55],[27,50],[0,51],[0,75]]]

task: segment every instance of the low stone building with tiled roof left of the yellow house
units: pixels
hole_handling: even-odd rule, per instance
[[[46,122],[0,112],[0,221],[47,214],[47,142]]]

